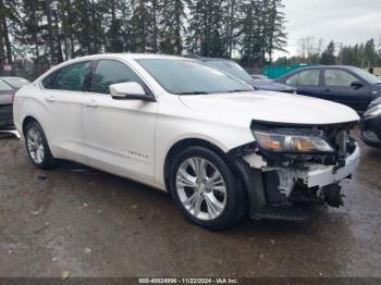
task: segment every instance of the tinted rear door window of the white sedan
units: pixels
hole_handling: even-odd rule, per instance
[[[42,85],[47,89],[81,91],[90,65],[90,61],[85,61],[62,67],[44,78]]]

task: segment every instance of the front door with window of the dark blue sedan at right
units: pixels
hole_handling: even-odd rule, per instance
[[[362,87],[352,87],[353,82],[360,82]],[[346,104],[357,112],[364,112],[369,103],[369,89],[367,84],[344,70],[324,70],[323,88],[330,100]]]

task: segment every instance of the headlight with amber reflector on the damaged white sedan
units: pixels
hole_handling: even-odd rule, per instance
[[[303,135],[276,134],[254,131],[259,146],[274,152],[333,152],[333,148],[323,138]]]

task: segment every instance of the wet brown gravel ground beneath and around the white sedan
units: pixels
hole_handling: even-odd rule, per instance
[[[381,276],[380,150],[362,148],[344,208],[222,233],[132,181],[71,163],[36,170],[24,141],[0,139],[0,161],[2,277]]]

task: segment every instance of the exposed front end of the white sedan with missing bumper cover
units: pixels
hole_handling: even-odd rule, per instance
[[[297,206],[343,206],[340,182],[359,164],[357,122],[294,125],[254,121],[255,141],[230,154],[243,173],[253,219],[305,220]]]

